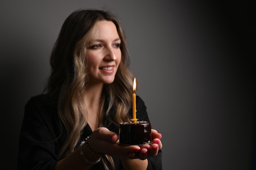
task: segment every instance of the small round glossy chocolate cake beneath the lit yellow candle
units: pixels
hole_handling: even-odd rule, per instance
[[[119,143],[143,145],[151,141],[151,125],[147,121],[124,122],[119,125]]]

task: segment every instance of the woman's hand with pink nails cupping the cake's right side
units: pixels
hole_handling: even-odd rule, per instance
[[[162,135],[156,130],[151,130],[151,139],[153,139],[153,144],[147,144],[140,146],[141,150],[139,152],[130,153],[130,159],[147,159],[148,156],[154,157],[157,155],[158,150],[162,149],[161,139]]]

